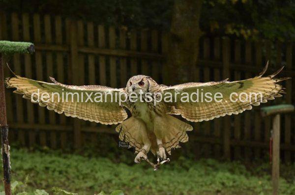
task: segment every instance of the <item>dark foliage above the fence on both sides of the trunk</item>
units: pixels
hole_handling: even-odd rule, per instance
[[[166,30],[171,27],[174,4],[174,0],[0,0],[4,11]],[[294,40],[294,10],[294,0],[202,0],[200,28],[207,35]]]

